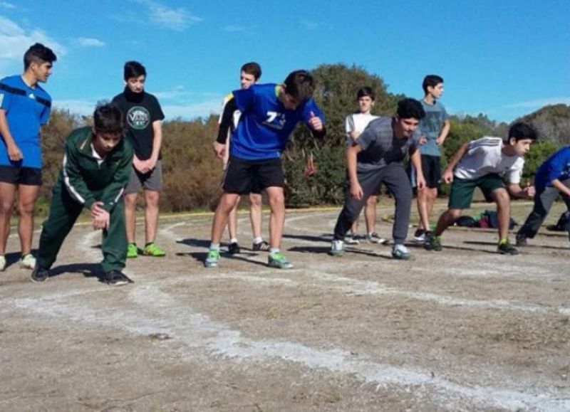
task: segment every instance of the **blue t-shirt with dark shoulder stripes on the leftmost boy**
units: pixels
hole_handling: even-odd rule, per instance
[[[40,85],[28,87],[20,75],[9,76],[0,80],[0,108],[6,112],[10,133],[24,155],[20,162],[11,162],[2,138],[0,164],[41,168],[40,128],[49,119],[50,95]]]

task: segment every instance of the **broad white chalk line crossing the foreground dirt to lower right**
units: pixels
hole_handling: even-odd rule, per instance
[[[182,342],[190,348],[184,354],[188,357],[193,356],[192,349],[198,348],[236,361],[254,361],[261,366],[270,359],[293,361],[309,369],[327,369],[358,376],[358,379],[375,384],[378,388],[389,385],[414,386],[414,391],[440,398],[442,404],[451,409],[462,408],[462,403],[457,403],[459,398],[477,406],[492,405],[507,409],[566,411],[570,408],[570,398],[563,398],[564,393],[552,390],[549,393],[546,389],[541,393],[532,393],[532,388],[528,387],[497,389],[492,386],[464,386],[432,376],[430,371],[358,359],[342,349],[321,350],[297,342],[242,337],[241,332],[193,312],[191,307],[173,300],[154,286],[134,288],[129,297],[138,305],[135,310],[113,311],[106,313],[105,317],[100,316],[99,310],[87,307],[88,302],[84,300],[72,303],[69,300],[26,298],[15,303],[21,310],[64,318],[66,322],[101,324],[115,329],[123,328],[138,335],[165,333],[172,341]]]

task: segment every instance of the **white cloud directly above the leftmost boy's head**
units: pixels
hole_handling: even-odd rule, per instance
[[[21,60],[33,43],[42,43],[51,48],[57,56],[66,54],[66,48],[53,40],[41,29],[26,31],[14,21],[0,16],[0,64]]]

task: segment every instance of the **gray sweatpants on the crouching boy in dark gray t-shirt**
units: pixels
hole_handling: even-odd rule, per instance
[[[362,186],[362,199],[356,200],[351,197],[351,188],[347,184],[346,197],[343,210],[338,216],[334,228],[334,239],[342,241],[352,224],[360,215],[362,208],[366,204],[368,197],[378,193],[380,185],[386,189],[395,199],[395,218],[392,228],[394,243],[404,243],[408,236],[408,225],[410,224],[410,207],[412,204],[412,186],[410,179],[405,173],[403,164],[390,163],[380,170],[358,172],[358,183]]]

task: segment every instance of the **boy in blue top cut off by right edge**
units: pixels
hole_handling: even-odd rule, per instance
[[[534,238],[559,195],[570,211],[570,146],[559,149],[540,165],[534,189],[534,207],[517,233],[517,246],[526,246],[527,238]],[[567,230],[570,239],[570,227]]]

